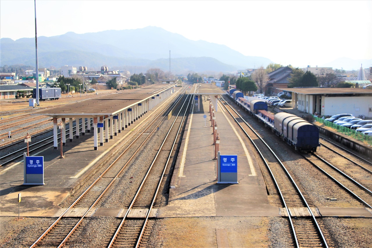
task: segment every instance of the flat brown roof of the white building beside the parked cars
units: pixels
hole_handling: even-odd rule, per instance
[[[287,88],[289,92],[304,95],[372,95],[370,89],[359,88]]]

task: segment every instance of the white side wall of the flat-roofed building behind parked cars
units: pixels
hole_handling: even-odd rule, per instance
[[[324,115],[347,113],[372,117],[372,111],[369,112],[369,108],[372,108],[371,96],[324,97],[322,105],[324,105]]]

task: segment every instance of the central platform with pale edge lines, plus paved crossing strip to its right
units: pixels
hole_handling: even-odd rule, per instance
[[[207,96],[199,104],[200,111],[196,107],[192,110],[183,135],[168,205],[158,209],[157,217],[286,216],[285,210],[270,204],[254,151],[241,139],[245,135],[234,127],[222,106],[215,112],[219,150],[221,155],[238,155],[238,184],[217,184]],[[372,217],[371,210],[366,208],[320,207],[312,212],[316,216]]]

